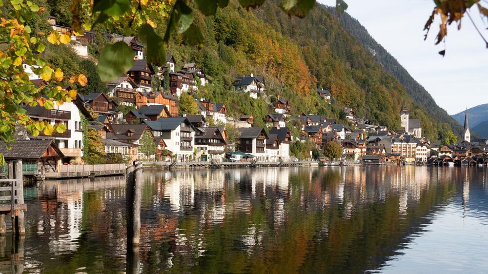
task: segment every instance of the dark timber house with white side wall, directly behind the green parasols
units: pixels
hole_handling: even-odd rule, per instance
[[[266,159],[265,139],[268,135],[262,127],[237,128],[239,131],[239,151],[251,154],[258,161]]]

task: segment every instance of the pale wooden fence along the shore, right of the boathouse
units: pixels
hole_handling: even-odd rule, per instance
[[[58,172],[46,172],[46,178],[95,177],[125,174],[125,164],[62,165]]]

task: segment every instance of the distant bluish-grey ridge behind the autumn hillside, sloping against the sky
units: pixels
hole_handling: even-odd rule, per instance
[[[337,16],[333,7],[327,7],[327,9]],[[405,86],[408,95],[415,104],[423,107],[428,115],[439,123],[447,123],[456,135],[461,136],[463,134],[463,126],[458,123],[460,121],[457,120],[458,122],[456,122],[444,109],[439,107],[427,90],[382,45],[369,35],[366,28],[358,20],[347,13],[337,17],[347,32],[358,39],[371,56]]]

